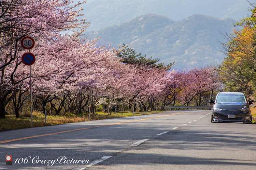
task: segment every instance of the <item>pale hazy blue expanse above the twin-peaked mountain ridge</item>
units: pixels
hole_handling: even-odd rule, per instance
[[[82,7],[83,17],[91,22],[87,30],[91,31],[118,25],[147,13],[175,21],[194,14],[240,20],[247,16],[250,4],[246,0],[87,0]]]

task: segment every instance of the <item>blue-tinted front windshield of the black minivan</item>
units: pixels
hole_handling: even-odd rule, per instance
[[[245,104],[244,95],[218,95],[216,103],[219,104]]]

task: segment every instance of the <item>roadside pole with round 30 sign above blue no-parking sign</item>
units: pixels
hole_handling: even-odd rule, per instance
[[[28,53],[24,53],[22,55],[22,62],[23,64],[29,66],[29,73],[30,73],[30,118],[31,118],[31,127],[33,127],[33,116],[32,116],[32,112],[33,112],[33,102],[32,102],[32,76],[31,76],[31,65],[34,64],[35,62],[35,56],[34,54],[30,53],[30,49],[32,49],[35,45],[35,41],[33,38],[26,36],[24,38],[22,38],[21,42],[20,42],[21,46],[26,49],[29,50]]]

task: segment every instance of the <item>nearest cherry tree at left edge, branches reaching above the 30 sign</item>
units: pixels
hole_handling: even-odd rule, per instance
[[[85,2],[85,1],[84,1]],[[82,2],[82,3],[84,3]],[[0,118],[5,116],[5,106],[17,92],[19,83],[28,79],[19,69],[20,56],[25,52],[20,47],[20,40],[29,35],[35,39],[35,50],[41,43],[51,43],[57,35],[70,29],[78,28],[83,32],[88,23],[85,19],[77,20],[78,5],[72,6],[70,0],[6,0],[1,2],[0,13]],[[48,73],[49,74],[49,73]]]

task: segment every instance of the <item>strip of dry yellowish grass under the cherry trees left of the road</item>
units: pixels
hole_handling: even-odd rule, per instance
[[[147,111],[147,114],[154,114],[156,111]],[[158,111],[159,113],[159,111]],[[145,115],[145,112],[135,112],[134,116]],[[117,117],[129,117],[133,116],[132,112],[119,112]],[[108,115],[107,113],[97,112],[96,114],[90,115],[91,120],[100,119],[111,119],[115,118],[115,113]],[[83,122],[89,121],[88,114],[74,115],[47,115],[46,116],[47,126],[73,123],[73,122]],[[45,126],[45,116],[40,112],[33,112],[33,127]],[[30,113],[21,113],[20,118],[16,118],[15,115],[5,115],[5,119],[0,119],[0,131],[23,129],[31,127]]]

